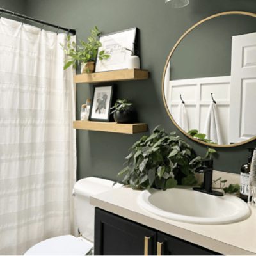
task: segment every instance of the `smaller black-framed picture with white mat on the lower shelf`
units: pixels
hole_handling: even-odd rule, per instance
[[[114,85],[94,85],[89,120],[109,122]]]

